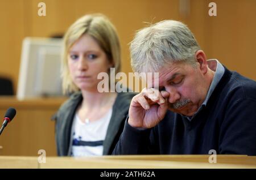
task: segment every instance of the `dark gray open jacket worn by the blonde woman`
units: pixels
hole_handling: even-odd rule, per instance
[[[106,138],[103,143],[103,155],[111,155],[123,131],[125,119],[129,111],[131,98],[135,93],[118,93],[113,105]],[[81,92],[74,93],[69,100],[61,105],[53,116],[55,123],[55,140],[58,156],[71,156],[72,149],[72,123],[77,107],[82,102]]]

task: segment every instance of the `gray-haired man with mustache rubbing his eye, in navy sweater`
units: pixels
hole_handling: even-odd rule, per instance
[[[114,155],[256,155],[256,82],[207,60],[174,20],[143,28],[130,52],[135,72],[159,72],[159,79],[131,100]]]

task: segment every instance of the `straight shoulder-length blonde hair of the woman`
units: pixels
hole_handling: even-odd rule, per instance
[[[89,14],[77,19],[69,27],[64,36],[63,57],[61,62],[61,77],[63,93],[72,93],[80,89],[72,82],[68,69],[68,52],[82,35],[90,35],[106,53],[110,63],[113,63],[115,73],[121,69],[121,48],[114,25],[102,14]]]

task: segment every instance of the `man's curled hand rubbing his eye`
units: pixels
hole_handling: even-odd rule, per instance
[[[151,128],[156,126],[166,115],[168,109],[166,91],[144,88],[131,100],[128,123],[133,127]]]

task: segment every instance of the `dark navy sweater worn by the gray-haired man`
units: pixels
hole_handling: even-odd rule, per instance
[[[126,120],[114,155],[256,155],[256,82],[225,67],[207,106],[192,121],[167,112],[154,128],[138,130]]]

